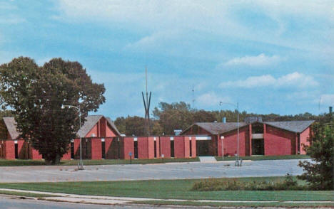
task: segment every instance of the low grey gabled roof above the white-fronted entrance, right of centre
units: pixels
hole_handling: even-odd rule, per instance
[[[238,128],[238,123],[236,122],[199,122],[195,123],[192,126],[197,125],[198,127],[201,127],[202,129],[205,129],[207,132],[211,134],[223,134],[225,132],[230,132],[234,129]],[[247,124],[244,122],[239,122],[239,127],[244,127]],[[192,127],[191,126],[191,127]],[[188,127],[190,129],[191,127]],[[184,130],[181,134],[188,131],[188,129]]]

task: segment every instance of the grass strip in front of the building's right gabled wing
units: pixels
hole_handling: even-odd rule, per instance
[[[225,156],[224,159],[221,156],[215,156],[217,161],[235,161],[235,156]],[[278,156],[243,156],[243,160],[252,161],[265,161],[265,160],[288,160],[288,159],[310,159],[310,156],[305,154],[300,155],[278,155]]]

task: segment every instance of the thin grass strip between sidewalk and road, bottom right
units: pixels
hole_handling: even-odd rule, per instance
[[[147,205],[183,205],[183,206],[233,206],[233,207],[333,207],[334,203],[219,203],[219,202],[195,202],[195,201],[165,201],[165,200],[145,200],[133,201],[133,204]]]

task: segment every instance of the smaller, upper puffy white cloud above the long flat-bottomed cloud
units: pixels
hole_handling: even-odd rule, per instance
[[[268,56],[261,53],[257,56],[244,56],[241,58],[233,58],[228,60],[225,65],[250,65],[250,66],[263,66],[263,65],[273,65],[280,61],[278,55]]]

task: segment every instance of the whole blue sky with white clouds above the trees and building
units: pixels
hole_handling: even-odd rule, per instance
[[[333,46],[334,1],[0,1],[0,63],[79,61],[113,119],[144,116],[146,66],[151,107],[327,112]]]

